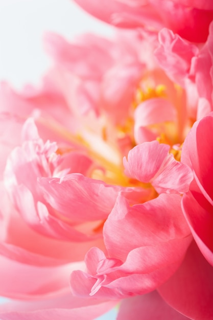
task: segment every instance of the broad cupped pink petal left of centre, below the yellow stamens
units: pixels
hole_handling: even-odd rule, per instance
[[[69,219],[106,219],[121,187],[73,173],[62,178],[40,178],[46,201]]]

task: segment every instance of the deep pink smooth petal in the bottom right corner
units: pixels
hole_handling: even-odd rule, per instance
[[[213,268],[195,242],[178,271],[158,291],[173,308],[196,320],[213,317]]]

